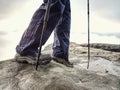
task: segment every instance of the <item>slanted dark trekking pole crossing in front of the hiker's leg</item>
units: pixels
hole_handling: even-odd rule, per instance
[[[41,49],[42,49],[43,32],[45,31],[45,29],[47,27],[47,22],[48,22],[48,19],[49,19],[49,12],[50,12],[50,4],[51,4],[51,2],[52,2],[52,0],[48,0],[47,6],[46,6],[46,12],[45,12],[45,16],[44,16],[44,22],[43,22],[43,27],[42,27],[41,36],[40,36],[40,43],[39,43],[39,48],[38,48],[36,70],[37,70],[38,65],[39,65],[39,59],[40,59]]]

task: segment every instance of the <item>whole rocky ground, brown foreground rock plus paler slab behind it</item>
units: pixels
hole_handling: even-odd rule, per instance
[[[43,52],[51,53],[50,48]],[[71,43],[74,68],[51,61],[36,71],[35,66],[14,59],[1,61],[0,90],[120,90],[119,58],[120,52],[91,48],[90,67],[86,69],[87,47]]]

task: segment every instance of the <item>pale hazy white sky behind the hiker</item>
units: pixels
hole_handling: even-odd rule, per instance
[[[15,47],[43,0],[0,0],[0,60],[13,57]],[[120,0],[90,0],[91,43],[120,43]],[[71,0],[70,40],[87,42],[87,0]],[[78,38],[79,39],[76,39]],[[48,43],[53,42],[53,35]]]

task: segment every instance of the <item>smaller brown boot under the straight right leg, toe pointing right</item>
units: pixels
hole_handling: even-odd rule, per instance
[[[66,59],[63,59],[63,58],[58,58],[58,57],[52,56],[52,60],[54,60],[57,63],[63,64],[67,67],[73,68],[73,63],[69,62],[68,59],[66,60]]]

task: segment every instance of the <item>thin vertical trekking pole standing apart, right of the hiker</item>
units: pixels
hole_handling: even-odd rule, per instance
[[[87,14],[88,14],[88,65],[87,65],[87,69],[88,69],[89,63],[90,63],[90,5],[89,5],[89,0],[87,0]]]

